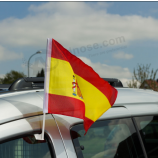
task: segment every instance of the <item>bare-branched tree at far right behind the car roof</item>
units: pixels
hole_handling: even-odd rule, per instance
[[[152,69],[150,71],[150,65],[151,64],[138,64],[137,67],[133,70],[132,81],[127,82],[128,87],[139,88],[139,86],[142,85],[145,80],[155,81],[158,69],[155,71]],[[152,84],[155,84],[155,82],[152,82]],[[156,86],[156,84],[153,86]]]

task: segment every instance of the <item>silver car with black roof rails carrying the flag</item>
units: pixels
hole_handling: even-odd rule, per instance
[[[18,89],[19,80],[31,84]],[[82,119],[46,114],[45,138],[37,140],[42,132],[44,79],[19,80],[0,92],[0,158],[158,157],[157,92],[124,88],[114,84],[120,83],[117,79],[105,79],[116,87],[118,97],[86,135]]]

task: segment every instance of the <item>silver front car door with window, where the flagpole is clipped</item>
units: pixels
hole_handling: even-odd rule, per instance
[[[0,157],[2,158],[67,158],[65,148],[51,114],[46,115],[45,140],[41,133],[43,115],[23,118],[0,125]]]

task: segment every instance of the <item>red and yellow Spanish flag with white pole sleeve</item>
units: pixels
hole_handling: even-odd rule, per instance
[[[43,112],[83,119],[87,132],[114,104],[117,90],[51,38],[46,60]]]

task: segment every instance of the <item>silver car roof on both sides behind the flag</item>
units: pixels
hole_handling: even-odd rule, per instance
[[[158,92],[152,90],[117,88],[118,97],[113,108],[105,112],[100,119],[113,116],[134,116],[158,113]],[[44,90],[18,91],[0,95],[0,124],[13,120],[42,115]],[[54,115],[69,120],[70,124],[82,122],[68,116]]]

